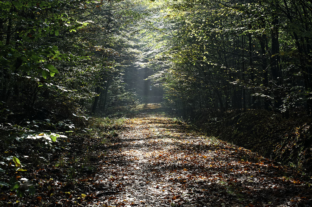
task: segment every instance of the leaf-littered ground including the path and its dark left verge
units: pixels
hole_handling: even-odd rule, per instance
[[[18,198],[4,186],[2,205],[312,205],[309,177],[193,130],[158,104],[136,111],[114,122],[96,119],[99,130],[69,136],[49,164],[28,164],[17,180],[36,182],[35,194]]]

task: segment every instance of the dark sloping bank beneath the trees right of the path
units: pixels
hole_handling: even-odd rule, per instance
[[[207,119],[208,117],[208,119]],[[305,171],[312,171],[311,116],[291,111],[289,117],[266,110],[198,114],[191,119],[199,130]]]

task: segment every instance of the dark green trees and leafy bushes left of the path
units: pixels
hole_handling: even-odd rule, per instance
[[[69,149],[70,133],[90,131],[86,113],[136,102],[123,81],[124,65],[135,57],[127,49],[132,28],[126,28],[141,16],[135,7],[122,1],[0,2],[1,186],[12,196],[32,195],[36,183],[46,182],[32,169]],[[59,160],[56,165],[64,166],[68,157]]]

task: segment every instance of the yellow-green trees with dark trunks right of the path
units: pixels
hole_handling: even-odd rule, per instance
[[[311,2],[163,3],[172,65],[154,79],[179,108],[311,110]]]

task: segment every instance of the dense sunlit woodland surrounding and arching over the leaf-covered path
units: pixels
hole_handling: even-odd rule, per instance
[[[141,103],[204,120],[296,114],[312,166],[311,32],[306,0],[1,1],[2,190],[33,194],[20,160],[49,163],[66,149],[57,142],[94,136],[99,117]]]

